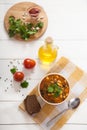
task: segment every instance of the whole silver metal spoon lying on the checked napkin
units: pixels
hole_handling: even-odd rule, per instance
[[[80,104],[80,99],[79,98],[73,98],[71,99],[70,101],[68,101],[68,108],[64,109],[63,111],[61,111],[60,113],[58,113],[56,116],[54,116],[52,119],[50,119],[48,122],[47,122],[47,126],[49,126],[52,121],[54,119],[56,119],[58,116],[60,116],[61,114],[63,114],[65,111],[69,110],[69,109],[75,109],[79,106]]]

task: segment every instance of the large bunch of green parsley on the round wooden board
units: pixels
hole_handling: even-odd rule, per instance
[[[22,39],[28,40],[30,36],[35,35],[38,29],[43,28],[43,22],[39,21],[36,24],[24,23],[21,19],[15,19],[15,17],[9,17],[9,29],[8,34],[10,37],[19,35]]]

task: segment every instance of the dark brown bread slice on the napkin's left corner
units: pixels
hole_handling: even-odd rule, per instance
[[[36,95],[28,95],[24,100],[26,111],[32,115],[40,111],[41,106],[37,100]]]

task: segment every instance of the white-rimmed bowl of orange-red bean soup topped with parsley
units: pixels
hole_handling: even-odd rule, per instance
[[[50,73],[43,77],[38,85],[39,95],[50,105],[63,103],[69,96],[68,81],[58,73]]]

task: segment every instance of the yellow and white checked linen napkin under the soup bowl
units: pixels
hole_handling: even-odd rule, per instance
[[[73,97],[79,97],[82,103],[84,99],[87,98],[87,74],[67,58],[61,57],[48,73],[51,72],[56,72],[63,75],[69,82],[71,91],[67,100],[70,100]],[[42,108],[39,113],[32,116],[32,119],[39,123],[44,130],[59,130],[69,120],[69,118],[76,110],[67,111],[59,119],[55,120],[49,127],[47,127],[46,123],[54,115],[66,108],[67,102],[58,106],[48,105],[44,103],[39,97],[37,87],[38,85],[32,90],[30,94],[37,95]],[[24,103],[21,103],[19,107],[25,111]]]

